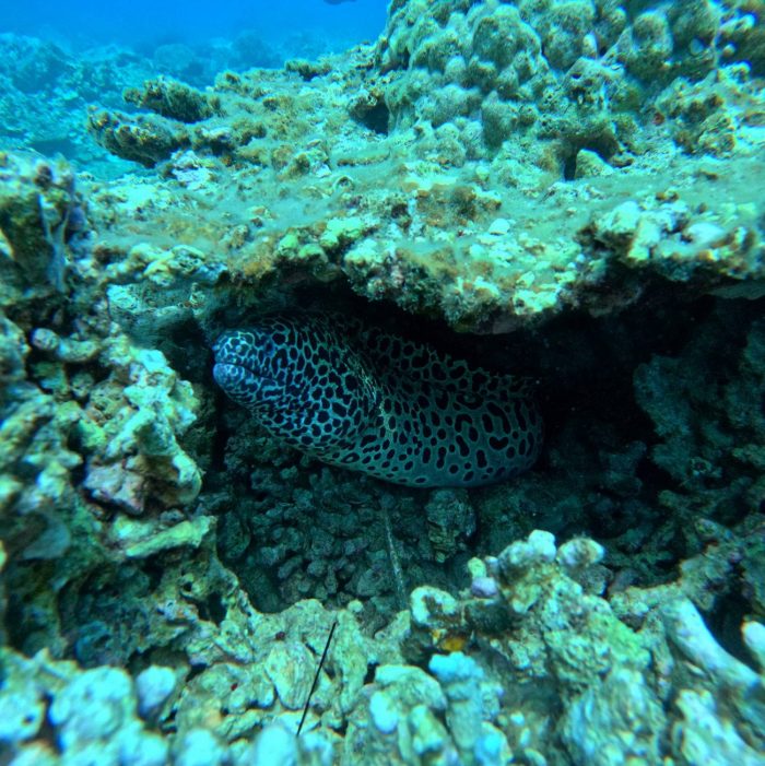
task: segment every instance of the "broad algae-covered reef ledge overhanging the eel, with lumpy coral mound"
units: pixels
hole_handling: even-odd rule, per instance
[[[160,170],[96,227],[123,255],[116,210],[154,247],[172,232],[239,299],[337,283],[462,331],[615,314],[655,280],[749,290],[762,89],[723,32],[746,17],[395,3],[374,48],[313,69],[227,71],[205,93],[150,81],[126,93],[142,111],[91,113],[102,145]]]

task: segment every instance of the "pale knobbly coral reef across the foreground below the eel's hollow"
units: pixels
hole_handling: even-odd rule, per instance
[[[176,639],[173,667],[134,679],[5,650],[0,707],[12,715],[0,739],[21,764],[56,763],[44,721],[64,758],[97,753],[103,763],[267,763],[271,749],[299,764],[694,764],[699,753],[762,763],[765,669],[735,659],[704,624],[694,605],[708,588],[704,568],[628,589],[614,610],[601,596],[603,553],[534,531],[471,561],[473,584],[491,579],[492,593],[419,588],[374,640],[360,631],[361,604],[349,604],[336,613],[301,739],[331,616],[316,601],[258,614],[233,581],[221,622],[202,621]],[[704,554],[725,556],[725,545]],[[762,663],[762,624],[744,623],[742,635]]]

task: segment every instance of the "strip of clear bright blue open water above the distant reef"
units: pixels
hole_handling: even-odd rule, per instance
[[[73,49],[117,44],[146,49],[164,43],[203,45],[251,31],[267,42],[310,35],[337,42],[374,40],[387,2],[356,0],[1,0],[0,33],[52,39]]]

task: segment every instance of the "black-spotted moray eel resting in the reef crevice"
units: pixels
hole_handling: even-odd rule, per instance
[[[476,486],[530,468],[542,421],[527,379],[326,316],[223,333],[213,376],[273,436],[409,486]]]

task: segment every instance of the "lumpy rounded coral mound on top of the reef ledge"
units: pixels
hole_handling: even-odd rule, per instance
[[[654,83],[697,81],[718,63],[723,15],[715,3],[647,5],[393,5],[377,48],[380,69],[396,72],[385,89],[391,119],[399,128],[423,118],[435,127],[452,121],[463,140],[475,121],[490,149],[530,134],[593,149],[608,161],[627,141],[613,123],[617,114],[648,103]],[[584,71],[598,66],[602,74],[588,82]]]

